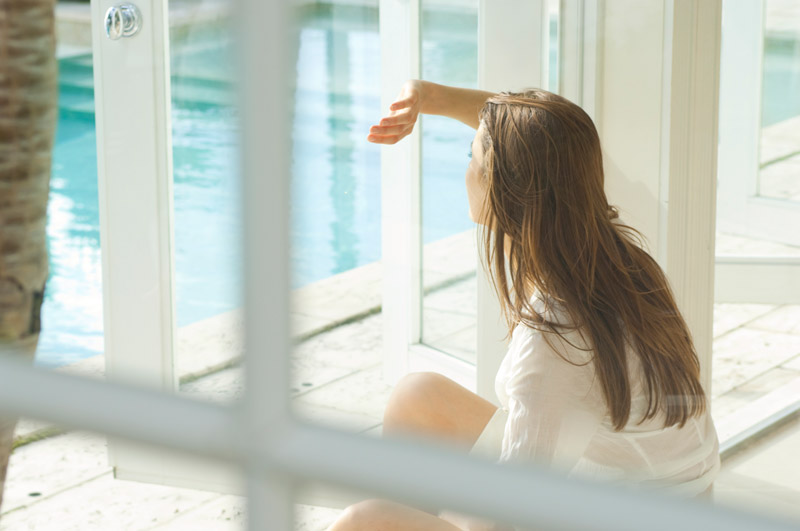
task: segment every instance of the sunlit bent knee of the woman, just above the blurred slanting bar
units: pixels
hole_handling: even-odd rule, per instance
[[[383,414],[384,432],[413,424],[421,414],[425,414],[426,406],[431,403],[430,397],[437,388],[444,385],[447,377],[436,372],[408,373],[397,382]]]

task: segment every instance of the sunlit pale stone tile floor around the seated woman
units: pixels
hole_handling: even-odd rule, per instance
[[[447,288],[449,295],[462,300],[470,296],[463,284]],[[299,415],[380,435],[391,391],[381,376],[381,319],[372,315],[297,346],[291,387]],[[448,321],[442,314],[437,319]],[[718,305],[713,392],[718,427],[723,417],[744,411],[748,400],[764,400],[800,377],[798,323],[797,306]],[[465,330],[447,333],[466,336]],[[231,401],[240,395],[241,384],[241,369],[232,367],[184,384],[181,391],[199,399]],[[41,424],[26,421],[19,433],[41,429]],[[798,447],[800,426],[795,422],[735,455],[717,481],[718,503],[793,513],[800,522],[800,459],[793,451]],[[2,511],[0,530],[239,529],[246,518],[244,500],[237,496],[114,479],[105,438],[83,432],[17,448]],[[297,529],[325,529],[337,514],[335,509],[299,505]]]

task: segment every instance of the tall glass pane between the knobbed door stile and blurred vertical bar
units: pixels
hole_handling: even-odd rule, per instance
[[[184,390],[195,395],[207,383],[187,380],[241,354],[239,121],[229,7],[176,4],[169,14],[175,361]]]

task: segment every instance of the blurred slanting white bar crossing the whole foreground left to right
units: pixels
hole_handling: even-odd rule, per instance
[[[297,421],[280,426],[272,444],[253,444],[236,421],[238,409],[33,369],[6,356],[0,357],[0,404],[10,413],[246,464],[250,474],[260,469],[287,481],[317,480],[523,527],[796,530],[694,500],[590,484],[532,466],[498,466],[444,445],[379,440]],[[580,510],[565,510],[567,500]]]

